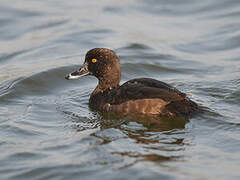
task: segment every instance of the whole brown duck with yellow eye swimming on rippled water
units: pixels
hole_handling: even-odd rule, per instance
[[[120,85],[120,60],[111,49],[89,50],[83,65],[65,78],[73,80],[89,75],[98,79],[89,99],[89,107],[95,111],[174,117],[189,116],[199,109],[187,94],[156,79],[135,78]]]

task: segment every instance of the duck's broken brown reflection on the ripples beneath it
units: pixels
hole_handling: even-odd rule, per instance
[[[96,123],[97,119],[98,123]],[[99,118],[87,121],[84,123],[82,118],[76,120],[75,116],[73,123],[76,125],[73,127],[77,131],[82,131],[86,129],[84,124],[88,126],[94,124],[94,128],[99,127],[100,130],[92,133],[91,136],[101,139],[100,142],[96,142],[96,146],[101,145],[106,146],[106,149],[111,149],[107,150],[109,159],[111,156],[118,155],[123,159],[131,160],[130,162],[126,160],[127,162],[119,166],[118,169],[133,166],[141,161],[165,162],[182,159],[180,152],[184,151],[186,145],[182,135],[186,133],[184,128],[189,122],[188,119],[142,115],[129,115],[123,118],[101,114]],[[132,148],[129,142],[134,142],[136,147]],[[115,143],[121,148],[113,148],[112,144]],[[119,162],[117,161],[117,163]],[[96,164],[106,165],[108,163],[97,161]]]

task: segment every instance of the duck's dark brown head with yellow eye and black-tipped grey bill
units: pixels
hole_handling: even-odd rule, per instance
[[[77,71],[68,74],[68,80],[92,75],[98,80],[98,88],[106,90],[119,85],[121,68],[116,53],[106,48],[94,48],[87,52],[85,62]]]

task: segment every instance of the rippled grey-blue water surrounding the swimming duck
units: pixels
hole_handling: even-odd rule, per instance
[[[87,50],[122,82],[152,77],[210,109],[191,119],[91,112]],[[239,179],[239,0],[2,0],[0,179]]]

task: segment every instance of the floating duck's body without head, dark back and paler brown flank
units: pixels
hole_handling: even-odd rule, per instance
[[[150,78],[132,79],[123,85],[91,94],[89,106],[116,114],[190,115],[197,104],[176,88]]]

